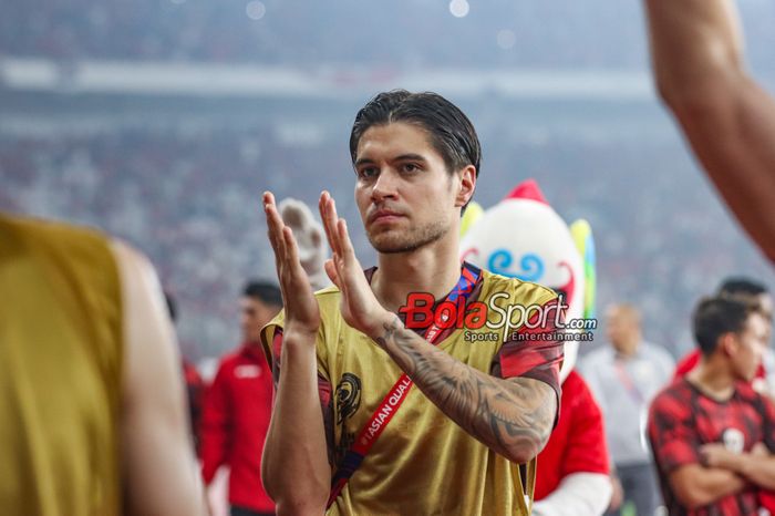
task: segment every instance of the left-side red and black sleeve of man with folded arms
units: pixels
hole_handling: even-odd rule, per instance
[[[665,475],[680,466],[700,463],[700,440],[693,414],[669,391],[659,394],[651,404],[649,440],[659,468]]]

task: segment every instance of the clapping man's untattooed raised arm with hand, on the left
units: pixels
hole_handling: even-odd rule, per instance
[[[275,197],[265,194],[269,240],[286,310],[280,378],[261,460],[261,478],[278,515],[320,515],[331,488],[331,467],[318,396],[318,302],[299,261],[296,240]]]

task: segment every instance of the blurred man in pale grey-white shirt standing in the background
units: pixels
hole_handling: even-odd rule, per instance
[[[660,503],[645,442],[647,411],[670,380],[674,361],[643,340],[640,313],[631,305],[609,307],[606,328],[609,345],[590,352],[581,362],[581,373],[606,421],[614,497],[619,491],[622,504],[632,503],[638,516],[652,516]],[[612,507],[610,514],[620,514],[620,507]]]

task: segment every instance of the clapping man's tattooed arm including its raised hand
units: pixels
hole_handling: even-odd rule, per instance
[[[326,271],[342,292],[344,321],[370,336],[451,420],[507,458],[526,463],[546,444],[557,394],[528,378],[498,379],[466,365],[404,328],[374,298],[355,258],[347,224],[324,193],[320,213],[333,258]]]

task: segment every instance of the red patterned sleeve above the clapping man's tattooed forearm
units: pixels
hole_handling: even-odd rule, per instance
[[[551,308],[557,302],[555,298],[545,303],[526,324],[506,339],[496,358],[494,371],[500,378],[524,376],[548,383],[557,393],[559,406],[560,365],[565,345],[557,339],[561,330],[555,324],[554,317],[547,317],[545,323],[537,324],[539,313],[558,310]]]

